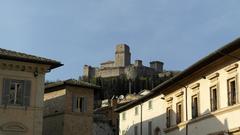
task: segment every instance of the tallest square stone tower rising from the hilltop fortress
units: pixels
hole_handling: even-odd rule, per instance
[[[131,64],[130,48],[126,44],[119,44],[115,52],[115,67],[126,67]]]

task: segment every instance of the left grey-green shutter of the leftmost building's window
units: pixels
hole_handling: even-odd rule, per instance
[[[7,107],[8,100],[9,100],[10,83],[11,83],[11,80],[3,79],[2,105],[5,105],[5,107]]]

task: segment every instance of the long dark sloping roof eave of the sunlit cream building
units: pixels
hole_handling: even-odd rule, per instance
[[[165,81],[164,83],[158,85],[157,87],[153,88],[152,91],[146,95],[143,96],[133,102],[130,102],[129,104],[126,104],[122,107],[117,108],[116,112],[122,112],[127,110],[128,108],[131,108],[135,105],[138,105],[142,102],[145,102],[157,95],[160,95],[160,92],[163,92],[166,88],[176,84],[177,82],[181,81],[183,78],[191,76],[192,73],[196,72],[197,70],[203,68],[204,66],[207,66],[209,63],[212,63],[225,55],[228,55],[229,53],[240,49],[240,38],[232,41],[231,43],[223,46],[222,48],[214,51],[213,53],[209,54],[208,56],[204,57],[203,59],[199,60],[180,74],[176,75],[175,77]],[[232,56],[231,56],[232,57]],[[239,59],[239,58],[238,58]]]

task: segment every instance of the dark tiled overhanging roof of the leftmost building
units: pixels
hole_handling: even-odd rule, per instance
[[[6,50],[2,48],[0,48],[0,59],[45,64],[45,65],[50,65],[51,69],[54,69],[63,65],[59,61],[38,57],[30,54],[20,53],[16,51]]]

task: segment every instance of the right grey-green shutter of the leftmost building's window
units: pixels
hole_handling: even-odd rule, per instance
[[[31,97],[31,81],[25,80],[24,81],[24,98],[23,98],[23,105],[25,107],[30,106],[30,97]]]

